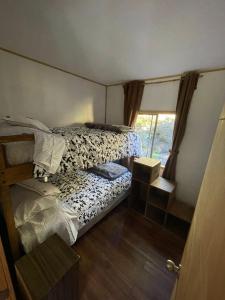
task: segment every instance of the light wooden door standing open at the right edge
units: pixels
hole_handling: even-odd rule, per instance
[[[181,265],[175,300],[225,299],[225,107]]]

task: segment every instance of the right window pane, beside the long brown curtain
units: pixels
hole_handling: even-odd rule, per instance
[[[175,114],[159,114],[153,142],[152,157],[165,166],[172,146]]]

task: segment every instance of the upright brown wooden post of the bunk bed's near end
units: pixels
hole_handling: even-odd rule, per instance
[[[2,175],[4,175],[4,169],[6,167],[5,149],[4,146],[0,144],[0,179]],[[0,209],[7,228],[11,254],[15,261],[21,256],[20,240],[14,222],[10,186],[4,185],[2,180],[0,180]]]

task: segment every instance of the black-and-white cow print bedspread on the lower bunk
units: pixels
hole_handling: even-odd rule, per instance
[[[130,188],[131,173],[108,180],[88,171],[77,170],[68,175],[55,174],[49,180],[60,189],[60,200],[67,210],[75,214],[79,228],[82,228]]]

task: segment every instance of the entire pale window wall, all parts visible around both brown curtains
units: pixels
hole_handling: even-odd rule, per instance
[[[141,110],[175,111],[179,82],[146,85]],[[177,198],[195,205],[211,149],[218,117],[225,102],[225,71],[199,79],[177,161]],[[123,122],[122,86],[108,87],[107,122]]]

